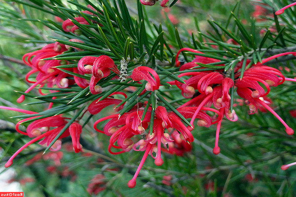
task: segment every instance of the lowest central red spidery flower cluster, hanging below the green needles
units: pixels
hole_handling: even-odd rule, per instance
[[[196,109],[197,107],[180,107],[177,110],[185,118],[189,118],[193,116]],[[206,114],[206,111],[215,112],[217,120],[212,121],[210,116]],[[111,154],[121,154],[130,150],[145,152],[134,177],[128,182],[128,187],[130,188],[135,187],[136,178],[148,155],[154,159],[154,164],[162,165],[161,151],[181,156],[191,150],[190,142],[193,141],[191,134],[193,128],[186,127],[175,113],[167,112],[165,107],[156,107],[152,131],[149,133],[146,130],[148,125],[151,124],[151,107],[148,106],[145,115],[143,113],[144,105],[140,105],[140,108],[137,105],[122,116],[119,116],[119,114],[110,115],[97,120],[94,124],[96,131],[111,136],[108,147]],[[209,127],[211,124],[220,121],[222,116],[218,110],[202,107],[195,118],[203,120],[204,126]],[[97,125],[108,119],[110,121],[104,126],[103,131],[99,130]],[[174,131],[174,129],[179,131],[179,133]],[[114,152],[112,149],[120,149],[120,151]]]

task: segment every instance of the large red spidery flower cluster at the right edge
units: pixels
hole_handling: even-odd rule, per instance
[[[201,53],[197,50],[183,48],[177,53],[176,66],[180,66],[178,56],[181,51],[191,51],[195,53]],[[264,66],[263,64],[283,55],[296,55],[296,52],[287,52],[278,54],[262,60],[261,64],[252,65],[249,69],[244,71],[243,77],[240,78],[242,62],[238,63],[234,67],[234,80],[227,77],[223,70],[217,71],[192,71],[180,74],[178,77],[186,76],[184,80],[185,84],[179,81],[170,82],[170,84],[176,84],[176,86],[182,91],[182,95],[185,98],[191,98],[180,107],[196,106],[190,124],[193,125],[193,121],[197,116],[197,113],[202,107],[210,107],[213,105],[214,108],[219,110],[221,116],[225,116],[230,121],[236,121],[238,117],[235,111],[230,111],[230,95],[229,89],[236,88],[237,95],[245,100],[250,108],[250,114],[253,114],[259,108],[265,108],[270,111],[286,128],[286,132],[292,135],[294,131],[285,123],[285,121],[276,114],[275,111],[265,102],[264,97],[268,95],[270,87],[275,87],[282,84],[285,80],[295,81],[294,79],[285,78],[283,74],[276,68]],[[180,70],[185,70],[196,66],[195,63],[209,64],[217,63],[219,60],[212,58],[206,58],[196,55],[195,60],[190,63],[186,63],[180,67]],[[247,62],[248,64],[248,62]],[[222,64],[219,66],[223,66]],[[198,70],[199,68],[197,68]],[[189,77],[189,78],[188,78]],[[261,84],[261,85],[260,85]],[[262,86],[265,88],[262,88]],[[216,117],[213,116],[212,119]],[[198,126],[206,126],[207,121],[198,120]],[[214,154],[220,153],[218,146],[219,132],[221,127],[221,120],[218,121],[216,131],[216,142],[213,149]]]

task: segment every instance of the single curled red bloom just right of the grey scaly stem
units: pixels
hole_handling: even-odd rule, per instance
[[[154,79],[151,77],[150,74],[153,75]],[[134,81],[141,81],[141,80],[147,81],[145,86],[145,89],[147,91],[158,90],[160,86],[160,80],[157,73],[152,68],[149,68],[147,66],[139,66],[134,68],[131,74],[131,78]]]

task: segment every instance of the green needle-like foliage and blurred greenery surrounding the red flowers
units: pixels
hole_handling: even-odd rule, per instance
[[[234,92],[234,87],[229,92],[230,111],[235,106],[239,120],[222,121],[219,141],[221,153],[213,155],[216,126],[209,128],[195,126],[192,131],[194,136],[192,151],[183,157],[163,153],[164,164],[161,166],[155,166],[148,158],[134,189],[129,189],[126,183],[132,178],[143,153],[130,151],[121,155],[111,155],[107,151],[109,137],[95,132],[93,125],[95,120],[109,115],[110,106],[99,114],[84,115],[86,113],[84,109],[91,101],[96,99],[101,101],[115,91],[130,88],[126,91],[126,99],[118,95],[113,96],[115,99],[122,99],[122,102],[116,104],[114,108],[119,108],[126,102],[118,111],[120,116],[135,105],[138,104],[139,108],[139,103],[147,102],[144,114],[139,118],[144,119],[151,104],[148,133],[152,133],[157,106],[164,106],[168,111],[174,112],[185,126],[190,127],[189,121],[176,109],[190,99],[182,97],[181,91],[172,87],[170,83],[176,80],[185,84],[185,80],[189,78],[178,76],[188,72],[188,70],[179,71],[175,66],[179,49],[192,48],[202,52],[183,51],[179,57],[179,60],[184,60],[183,63],[191,62],[196,55],[221,61],[211,64],[197,63],[190,72],[223,70],[223,74],[232,80],[234,77],[242,79],[245,70],[253,64],[261,63],[266,57],[280,52],[295,51],[294,8],[290,8],[280,16],[269,16],[268,13],[272,14],[273,9],[279,9],[288,2],[279,0],[275,2],[262,0],[262,2],[264,5],[258,1],[227,0],[219,3],[212,0],[180,0],[179,4],[179,1],[173,0],[169,12],[166,13],[157,5],[146,7],[138,0],[137,4],[134,0],[0,0],[0,40],[4,40],[0,45],[1,58],[9,56],[20,59],[29,49],[33,52],[44,44],[57,41],[71,46],[72,49],[43,60],[68,61],[68,65],[56,68],[73,77],[91,79],[90,74],[82,75],[68,69],[76,68],[78,60],[82,57],[107,55],[112,58],[118,69],[120,61],[125,60],[128,75],[131,75],[133,69],[138,66],[152,68],[158,74],[162,85],[155,92],[146,91],[142,94],[146,82],[142,81],[142,84],[139,84],[131,79],[120,81],[114,79],[115,74],[112,73],[96,84],[104,90],[97,95],[90,94],[89,87],[83,89],[73,84],[66,89],[40,87],[47,93],[40,96],[33,91],[23,92],[27,85],[21,80],[28,72],[27,67],[10,63],[11,59],[2,58],[1,99],[15,103],[19,94],[25,95],[27,105],[18,105],[19,108],[37,111],[38,114],[20,115],[17,112],[5,112],[0,114],[0,119],[10,121],[8,117],[14,116],[12,122],[16,123],[19,119],[35,117],[25,121],[25,126],[35,120],[59,114],[65,114],[65,117],[70,119],[46,149],[31,145],[17,158],[14,164],[17,171],[15,179],[20,181],[31,177],[35,180],[24,185],[25,196],[92,196],[88,194],[86,188],[92,182],[94,175],[103,174],[105,179],[101,185],[105,190],[98,196],[104,197],[140,195],[293,197],[296,193],[296,172],[292,167],[283,171],[280,166],[295,161],[294,135],[287,135],[283,125],[279,124],[278,119],[270,113],[258,112],[249,115],[248,107],[241,106],[243,101],[235,99],[238,95]],[[254,11],[251,3],[267,9],[262,16],[265,20],[250,18]],[[87,5],[91,5],[94,10]],[[178,24],[170,21],[171,13],[178,16]],[[57,22],[55,16],[63,20],[70,19],[78,30],[74,33],[64,31],[62,23]],[[78,16],[83,17],[88,25],[77,22],[75,17]],[[260,30],[263,33],[260,33]],[[80,39],[83,43],[69,41],[74,38]],[[284,67],[282,70],[284,76],[294,78],[296,67],[293,59],[294,56],[279,58],[270,66]],[[242,62],[240,76],[234,76],[235,66],[239,62]],[[296,106],[296,85],[292,82],[285,84],[273,87],[269,98],[272,99],[271,105],[280,117],[291,128],[296,129],[295,120],[289,115],[289,111],[295,110]],[[12,90],[17,91],[17,94]],[[43,110],[49,102],[53,103],[53,107]],[[1,103],[1,105],[7,104]],[[68,137],[63,139],[65,147],[61,151],[63,152],[61,164],[45,161],[44,156],[51,154],[47,150],[74,121],[79,121],[83,125],[80,143],[84,152],[77,154],[67,152],[67,141],[71,140]],[[98,125],[98,128],[102,127],[103,124]],[[7,128],[1,130],[2,161],[7,161],[8,157],[27,141],[29,137],[23,138]],[[45,155],[40,156],[41,159],[39,158],[36,163],[24,164],[36,154],[45,151]],[[23,167],[18,167],[22,164]],[[50,171],[50,166],[55,170]],[[162,182],[164,176],[171,176],[168,185]]]

